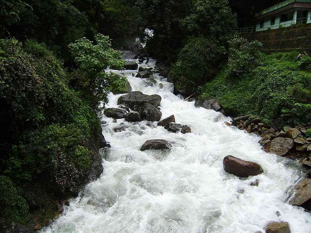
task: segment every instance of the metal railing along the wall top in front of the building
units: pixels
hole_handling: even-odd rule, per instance
[[[264,31],[264,30],[277,29],[277,28],[282,28],[282,27],[290,27],[290,26],[307,24],[307,23],[311,23],[311,16],[299,18],[296,20],[293,19],[291,21],[274,23],[274,24],[269,23],[269,24],[264,24],[264,25],[260,25],[260,26],[236,28],[236,29],[234,29],[234,31],[237,33],[252,33],[252,32],[256,32],[256,31]]]

